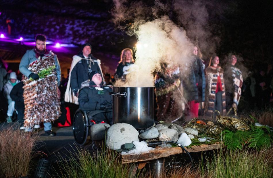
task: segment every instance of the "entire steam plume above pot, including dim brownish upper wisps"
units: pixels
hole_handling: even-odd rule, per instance
[[[183,73],[183,67],[192,60],[194,45],[201,45],[207,57],[215,53],[220,40],[208,24],[207,7],[220,14],[217,1],[113,1],[112,21],[138,39],[131,73],[126,76],[126,83],[118,80],[115,86],[153,86],[153,74],[160,71],[161,62],[179,65]]]

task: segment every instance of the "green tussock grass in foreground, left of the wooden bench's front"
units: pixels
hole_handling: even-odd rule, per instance
[[[125,178],[130,173],[129,164],[121,164],[119,154],[110,150],[90,153],[88,150],[79,149],[76,158],[78,160],[59,163],[59,167],[63,169],[59,177]]]

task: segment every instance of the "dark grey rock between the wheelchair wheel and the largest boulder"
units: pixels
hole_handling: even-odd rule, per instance
[[[107,129],[108,127],[110,127],[110,125],[106,123],[99,123],[91,126],[91,140],[103,140],[105,138],[105,129]]]

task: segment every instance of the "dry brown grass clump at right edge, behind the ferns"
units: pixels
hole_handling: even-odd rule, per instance
[[[250,115],[258,120],[260,124],[273,127],[273,109],[269,108],[264,111],[253,111]]]

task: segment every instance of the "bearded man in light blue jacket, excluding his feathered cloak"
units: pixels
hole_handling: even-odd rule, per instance
[[[38,34],[35,37],[35,47],[34,49],[27,50],[24,56],[22,57],[22,60],[19,65],[20,72],[28,77],[32,78],[34,80],[39,79],[39,75],[36,73],[32,73],[30,70],[28,70],[28,67],[36,63],[38,60],[42,60],[42,57],[46,54],[53,54],[51,51],[48,51],[46,49],[46,40],[47,38],[45,35]],[[61,70],[60,70],[60,64],[57,58],[57,55],[54,55],[55,59],[55,72],[57,76],[57,84],[59,86],[60,79],[61,79]],[[57,96],[56,96],[57,97]],[[34,127],[35,128],[35,127]],[[44,122],[44,130],[45,133],[49,136],[55,136],[56,133],[51,131],[52,125],[50,122]]]

